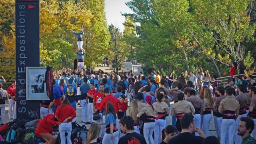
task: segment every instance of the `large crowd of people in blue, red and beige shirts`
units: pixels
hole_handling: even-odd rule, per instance
[[[77,51],[81,53],[83,49]],[[52,143],[52,127],[59,125],[61,143],[66,139],[71,143],[71,123],[81,115],[81,123],[91,124],[86,143],[97,143],[99,137],[103,144],[245,143],[256,137],[256,83],[252,75],[249,81],[245,75],[242,80],[234,76],[237,66],[233,65],[226,86],[219,85],[217,76],[208,70],[203,73],[202,68],[196,74],[185,71],[177,79],[173,73],[164,76],[154,70],[148,76],[143,71],[134,76],[132,71],[55,70],[54,98],[41,101],[43,120],[36,135]],[[5,123],[5,99],[10,103],[9,118],[16,118],[15,81],[7,91],[0,83],[0,92],[1,123]],[[80,94],[87,98],[78,102],[67,99]],[[76,113],[77,105],[81,114]],[[209,132],[212,115],[218,138]]]

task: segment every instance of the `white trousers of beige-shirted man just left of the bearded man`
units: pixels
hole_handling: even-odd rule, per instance
[[[235,119],[222,119],[220,144],[234,144],[234,133],[236,128]],[[227,135],[228,131],[228,135]],[[226,137],[228,136],[228,143]]]

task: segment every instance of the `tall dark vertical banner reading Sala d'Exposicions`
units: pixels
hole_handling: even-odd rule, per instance
[[[26,101],[26,67],[39,67],[39,0],[16,0],[17,119],[40,117],[39,101]]]

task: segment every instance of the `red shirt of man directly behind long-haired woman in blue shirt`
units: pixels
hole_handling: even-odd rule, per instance
[[[106,111],[106,107],[107,107],[107,103],[108,102],[111,102],[112,104],[113,104],[113,106],[114,106],[114,108],[115,108],[115,110],[116,110],[116,113],[118,112],[118,103],[119,103],[119,101],[118,101],[118,99],[116,98],[116,97],[114,97],[113,95],[111,95],[111,94],[108,94],[108,95],[106,95],[106,97],[104,98],[104,99],[102,99],[101,100],[101,102],[100,102],[100,107],[99,107],[99,111],[102,111],[103,110],[103,108],[105,108],[105,111]]]

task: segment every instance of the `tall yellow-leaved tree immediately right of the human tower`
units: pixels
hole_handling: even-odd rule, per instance
[[[106,22],[103,0],[86,0],[84,2],[92,12],[91,25],[85,26],[84,47],[85,65],[94,66],[102,62],[109,49],[110,33]]]

